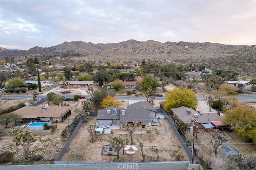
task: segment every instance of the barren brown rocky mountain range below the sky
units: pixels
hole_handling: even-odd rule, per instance
[[[225,45],[220,43],[165,42],[128,40],[119,43],[64,42],[52,47],[0,51],[0,58],[20,56],[76,56],[99,63],[140,62],[150,59],[158,63],[206,64],[210,68],[256,68],[256,45]]]

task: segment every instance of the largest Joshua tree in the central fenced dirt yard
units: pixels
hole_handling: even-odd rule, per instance
[[[117,160],[119,160],[119,152],[124,147],[124,145],[129,143],[128,138],[124,138],[122,136],[113,136],[109,141],[109,145],[113,146],[113,148],[117,151]]]

